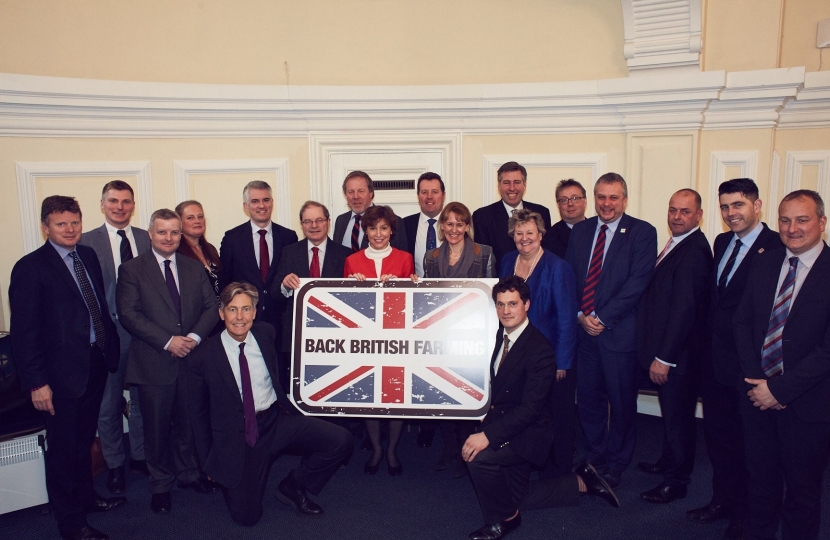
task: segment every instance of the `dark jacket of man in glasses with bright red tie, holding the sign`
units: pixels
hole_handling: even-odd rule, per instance
[[[342,278],[343,266],[346,264],[346,257],[352,254],[352,250],[333,242],[331,238],[326,242],[326,256],[323,258],[323,268],[320,269],[321,278]],[[303,238],[285,246],[280,255],[277,275],[274,278],[276,287],[281,287],[282,280],[288,274],[296,274],[297,277],[307,278],[308,275],[308,240]],[[282,294],[280,292],[280,294]],[[293,304],[288,303],[282,317],[282,352],[291,350],[291,331],[294,328]]]

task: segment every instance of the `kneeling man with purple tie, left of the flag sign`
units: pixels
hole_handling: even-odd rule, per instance
[[[193,433],[205,472],[222,485],[234,521],[262,517],[262,497],[274,459],[303,455],[277,487],[277,498],[299,515],[323,513],[306,491],[319,493],[352,453],[351,434],[294,412],[277,378],[274,327],[254,324],[259,294],[250,283],[231,283],[220,295],[225,330],[189,359]]]

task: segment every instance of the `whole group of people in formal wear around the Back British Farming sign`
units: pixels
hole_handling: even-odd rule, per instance
[[[205,239],[197,201],[161,209],[148,231],[132,227],[132,188],[104,186],[105,224],[82,234],[71,197],[47,197],[46,243],[17,262],[11,277],[11,338],[21,383],[44,411],[47,489],[60,534],[107,538],[88,512],[122,506],[125,469],[149,477],[151,509],[172,510],[174,484],[223,492],[243,525],[262,516],[273,460],[303,459],[277,487],[300,515],[322,508],[309,498],[352,453],[352,433],[300,415],[286,398],[293,310],[301,278],[499,277],[493,301],[501,327],[491,358],[491,407],[481,422],[420,421],[418,443],[440,429],[436,470],[469,473],[484,516],[473,540],[497,540],[523,510],[577,504],[592,494],[619,506],[636,442],[640,381],[657,389],[663,451],[641,462],[662,476],[640,494],[650,503],[686,495],[694,466],[695,409],[702,396],[713,467],[712,499],[687,517],[728,519],[724,537],[817,538],[821,478],[830,449],[830,253],[821,235],[821,197],[788,194],[780,233],[760,220],[751,179],[719,186],[729,228],[714,257],[700,230],[700,195],[668,203],[671,238],[658,253],[651,224],[625,213],[628,191],[616,173],[587,193],[561,181],[561,220],[524,200],[527,171],[516,162],[497,175],[500,200],[470,210],[445,204],[435,173],[416,184],[420,212],[404,218],[374,205],[368,174],[343,181],[349,211],[329,237],[328,209],[299,212],[304,238],[271,220],[270,186],[250,182],[250,220],[227,231],[217,250]],[[121,427],[130,389],[129,449]],[[371,456],[390,475],[403,421],[365,420]],[[575,466],[575,436],[584,435]],[[93,489],[96,430],[109,472]],[[531,481],[531,471],[538,480]],[[786,494],[784,494],[786,487]]]

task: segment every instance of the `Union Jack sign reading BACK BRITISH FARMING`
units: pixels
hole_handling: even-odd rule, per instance
[[[479,418],[496,280],[309,280],[295,299],[292,392],[304,412]]]

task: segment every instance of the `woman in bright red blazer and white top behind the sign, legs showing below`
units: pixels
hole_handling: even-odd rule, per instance
[[[387,281],[392,278],[413,278],[415,263],[412,255],[389,245],[389,239],[398,227],[398,218],[388,206],[371,206],[361,219],[363,232],[369,238],[369,246],[346,258],[343,276],[358,281],[379,279]],[[380,420],[366,420],[366,432],[372,442],[372,457],[363,467],[366,474],[378,472],[383,461],[383,448],[380,445]],[[386,462],[389,474],[397,476],[403,472],[395,449],[403,431],[403,420],[389,420],[389,446],[386,449]]]

